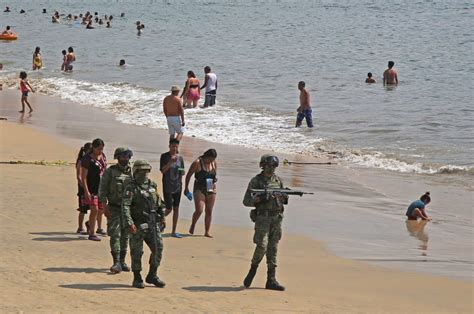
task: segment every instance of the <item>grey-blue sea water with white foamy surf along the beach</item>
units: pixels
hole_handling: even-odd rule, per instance
[[[336,158],[387,171],[474,173],[473,13],[470,1],[0,1],[0,80],[16,87],[41,47],[38,91],[95,106],[119,121],[166,128],[161,102],[186,72],[218,75],[218,104],[186,111],[186,135]],[[18,12],[23,8],[26,14]],[[48,14],[42,14],[43,8]],[[86,30],[51,14],[113,15]],[[3,10],[2,10],[3,11]],[[125,17],[120,18],[124,12]],[[145,24],[137,36],[135,22]],[[61,50],[77,55],[59,71]],[[119,68],[126,59],[129,66]],[[400,84],[384,88],[393,60]],[[377,84],[364,83],[372,72]],[[312,96],[315,127],[295,129],[297,82]]]

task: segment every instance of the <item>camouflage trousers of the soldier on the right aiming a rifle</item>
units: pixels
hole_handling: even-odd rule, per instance
[[[258,265],[267,256],[268,268],[277,266],[276,256],[278,252],[278,242],[281,239],[281,223],[283,215],[257,216],[255,220],[255,233],[253,243],[256,244],[253,253],[252,264]]]

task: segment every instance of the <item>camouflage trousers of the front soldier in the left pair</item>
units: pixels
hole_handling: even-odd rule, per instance
[[[157,228],[158,229],[158,228]],[[148,245],[151,251],[149,264],[150,269],[157,268],[161,263],[163,255],[163,239],[160,230],[156,231],[156,248],[153,246],[153,234],[148,230],[137,230],[137,233],[130,235],[130,254],[132,255],[132,271],[142,270],[143,242]]]

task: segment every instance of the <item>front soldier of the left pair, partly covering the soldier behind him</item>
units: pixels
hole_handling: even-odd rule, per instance
[[[129,229],[130,253],[132,255],[133,286],[145,288],[140,272],[142,270],[143,241],[151,250],[150,270],[145,281],[163,288],[165,283],[158,278],[156,271],[161,262],[163,253],[163,239],[161,237],[160,226],[164,225],[164,202],[158,195],[157,185],[148,178],[151,165],[146,160],[137,160],[133,163],[133,180],[125,188],[122,202],[122,214],[124,227]],[[148,226],[148,217],[151,208],[149,204],[155,205],[158,213],[156,217],[156,241],[153,239],[153,232]],[[155,245],[156,243],[156,245]]]

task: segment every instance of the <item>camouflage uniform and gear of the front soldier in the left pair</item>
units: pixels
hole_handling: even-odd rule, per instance
[[[136,161],[135,163],[137,162],[139,161]],[[155,209],[157,211],[158,216],[156,226],[156,247],[154,247],[153,245],[153,233],[148,229],[143,229],[140,227],[141,225],[146,225],[148,222],[148,217],[143,212],[150,213],[151,210],[145,198],[151,200],[156,206]],[[160,281],[160,284],[156,284],[154,281],[155,279],[159,280],[159,278],[156,277],[156,271],[158,269],[158,266],[160,266],[161,257],[163,254],[163,239],[161,237],[159,225],[164,222],[164,208],[164,202],[158,195],[157,185],[150,179],[146,179],[146,181],[142,184],[138,184],[136,181],[131,181],[130,184],[125,188],[122,202],[122,221],[124,222],[124,227],[126,228],[130,228],[132,225],[135,225],[137,228],[136,233],[130,235],[132,271],[135,276],[134,286],[136,286],[136,280],[141,281],[141,260],[143,255],[143,241],[145,241],[145,243],[151,250],[151,256],[149,259],[150,271],[148,273],[146,282],[154,283],[156,286],[164,287],[163,282]],[[139,279],[137,279],[137,277],[139,277]],[[143,285],[143,281],[141,281],[141,283]],[[143,288],[144,286],[136,287]]]

